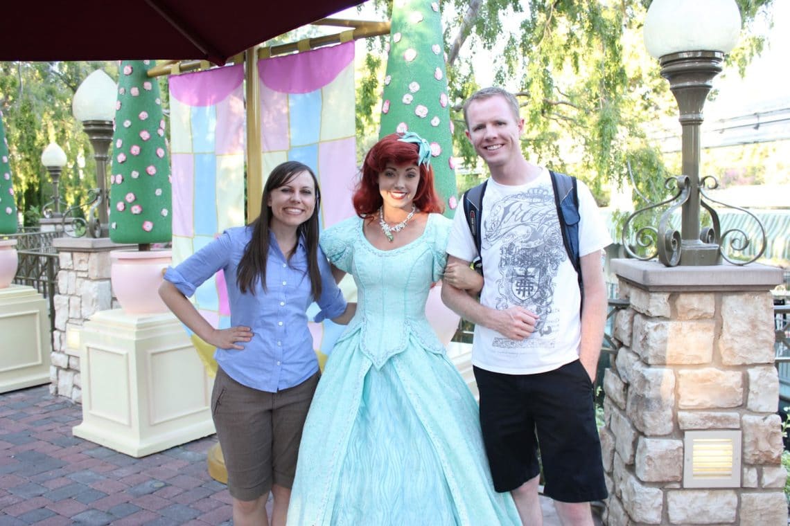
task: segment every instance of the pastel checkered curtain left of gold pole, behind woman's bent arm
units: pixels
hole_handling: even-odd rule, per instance
[[[243,65],[169,78],[174,265],[224,229],[245,223],[243,80]],[[222,270],[193,301],[213,326],[230,326]],[[213,347],[190,337],[209,371],[216,371]]]

